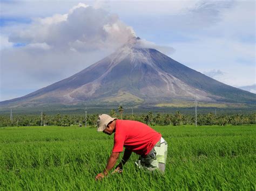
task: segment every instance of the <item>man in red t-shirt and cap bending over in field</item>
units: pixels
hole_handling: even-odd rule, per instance
[[[114,172],[122,172],[124,164],[134,152],[140,155],[135,162],[138,168],[148,171],[156,169],[164,173],[167,156],[167,143],[161,134],[151,129],[144,123],[130,120],[120,120],[109,115],[99,115],[97,131],[103,131],[107,135],[114,133],[114,146],[103,173],[96,176],[96,180],[103,179],[117,162],[120,152],[125,147],[124,156]]]

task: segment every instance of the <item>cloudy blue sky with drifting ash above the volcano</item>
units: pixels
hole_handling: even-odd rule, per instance
[[[255,1],[1,1],[0,29],[0,101],[69,77],[132,35],[220,82],[256,83]]]

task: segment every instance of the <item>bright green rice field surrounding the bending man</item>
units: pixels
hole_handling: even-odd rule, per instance
[[[133,153],[123,174],[96,182],[113,136],[95,128],[0,128],[0,190],[255,190],[256,125],[154,129],[169,144],[165,175],[137,172]]]

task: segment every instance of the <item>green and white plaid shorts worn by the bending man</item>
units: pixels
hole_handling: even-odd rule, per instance
[[[167,157],[167,142],[163,137],[157,142],[152,150],[145,157],[140,156],[135,162],[138,168],[147,169],[148,171],[154,171],[159,169],[164,173],[166,157]]]

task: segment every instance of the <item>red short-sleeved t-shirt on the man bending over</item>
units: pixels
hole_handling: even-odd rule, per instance
[[[144,123],[117,119],[112,152],[122,152],[125,147],[139,155],[147,155],[160,138],[160,133]]]

